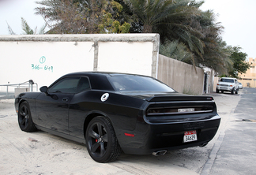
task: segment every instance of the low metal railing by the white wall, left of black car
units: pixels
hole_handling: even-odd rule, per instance
[[[6,87],[6,91],[0,91],[0,99],[15,98],[17,89],[27,88],[28,91],[38,91],[38,85],[33,80],[28,80],[22,84],[0,84],[0,87]]]

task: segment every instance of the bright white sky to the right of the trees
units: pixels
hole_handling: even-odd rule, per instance
[[[248,58],[256,58],[256,1],[205,0],[201,9],[213,9],[224,26],[222,39],[232,47],[242,47]]]

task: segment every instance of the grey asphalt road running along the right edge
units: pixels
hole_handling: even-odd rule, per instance
[[[239,93],[239,103],[213,147],[212,167],[206,163],[201,174],[256,174],[256,89],[244,87]]]

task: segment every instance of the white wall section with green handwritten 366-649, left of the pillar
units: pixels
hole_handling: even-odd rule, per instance
[[[2,42],[1,42],[2,43]],[[50,85],[59,76],[93,70],[92,42],[5,42],[0,46],[0,84],[34,80]]]

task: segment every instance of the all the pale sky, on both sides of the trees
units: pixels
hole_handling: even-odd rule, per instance
[[[43,17],[35,15],[34,0],[0,0],[0,35],[9,35],[8,26],[21,34],[21,17],[29,26],[38,30],[43,26]],[[250,58],[256,58],[256,0],[205,0],[201,9],[213,9],[218,14],[216,22],[224,26],[223,40],[232,47],[242,47]]]

